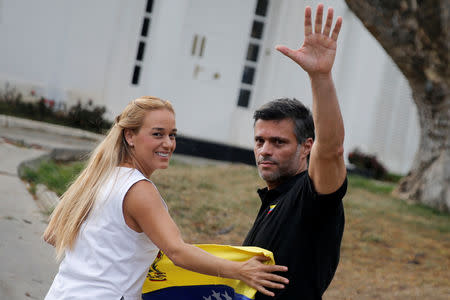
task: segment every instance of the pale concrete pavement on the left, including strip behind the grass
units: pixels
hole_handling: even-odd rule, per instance
[[[0,116],[0,299],[43,299],[58,263],[41,235],[42,213],[18,176],[20,163],[54,148],[92,149],[99,135]]]

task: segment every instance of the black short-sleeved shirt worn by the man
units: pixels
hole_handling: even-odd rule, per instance
[[[342,198],[347,179],[334,193],[319,195],[307,171],[268,190],[258,190],[262,205],[244,246],[273,252],[280,275],[289,279],[275,297],[261,293],[255,299],[322,299],[339,263],[344,231]]]

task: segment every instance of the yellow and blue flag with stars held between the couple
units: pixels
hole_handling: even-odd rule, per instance
[[[258,247],[238,247],[204,244],[197,247],[233,261],[245,261],[255,255],[265,255],[275,264],[272,252]],[[249,300],[256,290],[239,280],[208,276],[175,266],[160,252],[150,267],[142,288],[143,300]]]

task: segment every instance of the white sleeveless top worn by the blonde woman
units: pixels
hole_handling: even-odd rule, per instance
[[[66,251],[46,300],[141,299],[159,249],[145,233],[128,227],[122,211],[125,194],[141,180],[148,179],[138,170],[117,167],[83,222],[73,250]]]

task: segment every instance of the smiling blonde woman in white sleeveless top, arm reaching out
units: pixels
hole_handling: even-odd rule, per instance
[[[61,261],[45,299],[141,299],[159,249],[178,266],[239,279],[273,296],[286,271],[264,257],[232,262],[186,244],[150,176],[169,166],[175,150],[172,105],[141,97],[116,117],[86,168],[61,197],[44,239]]]

